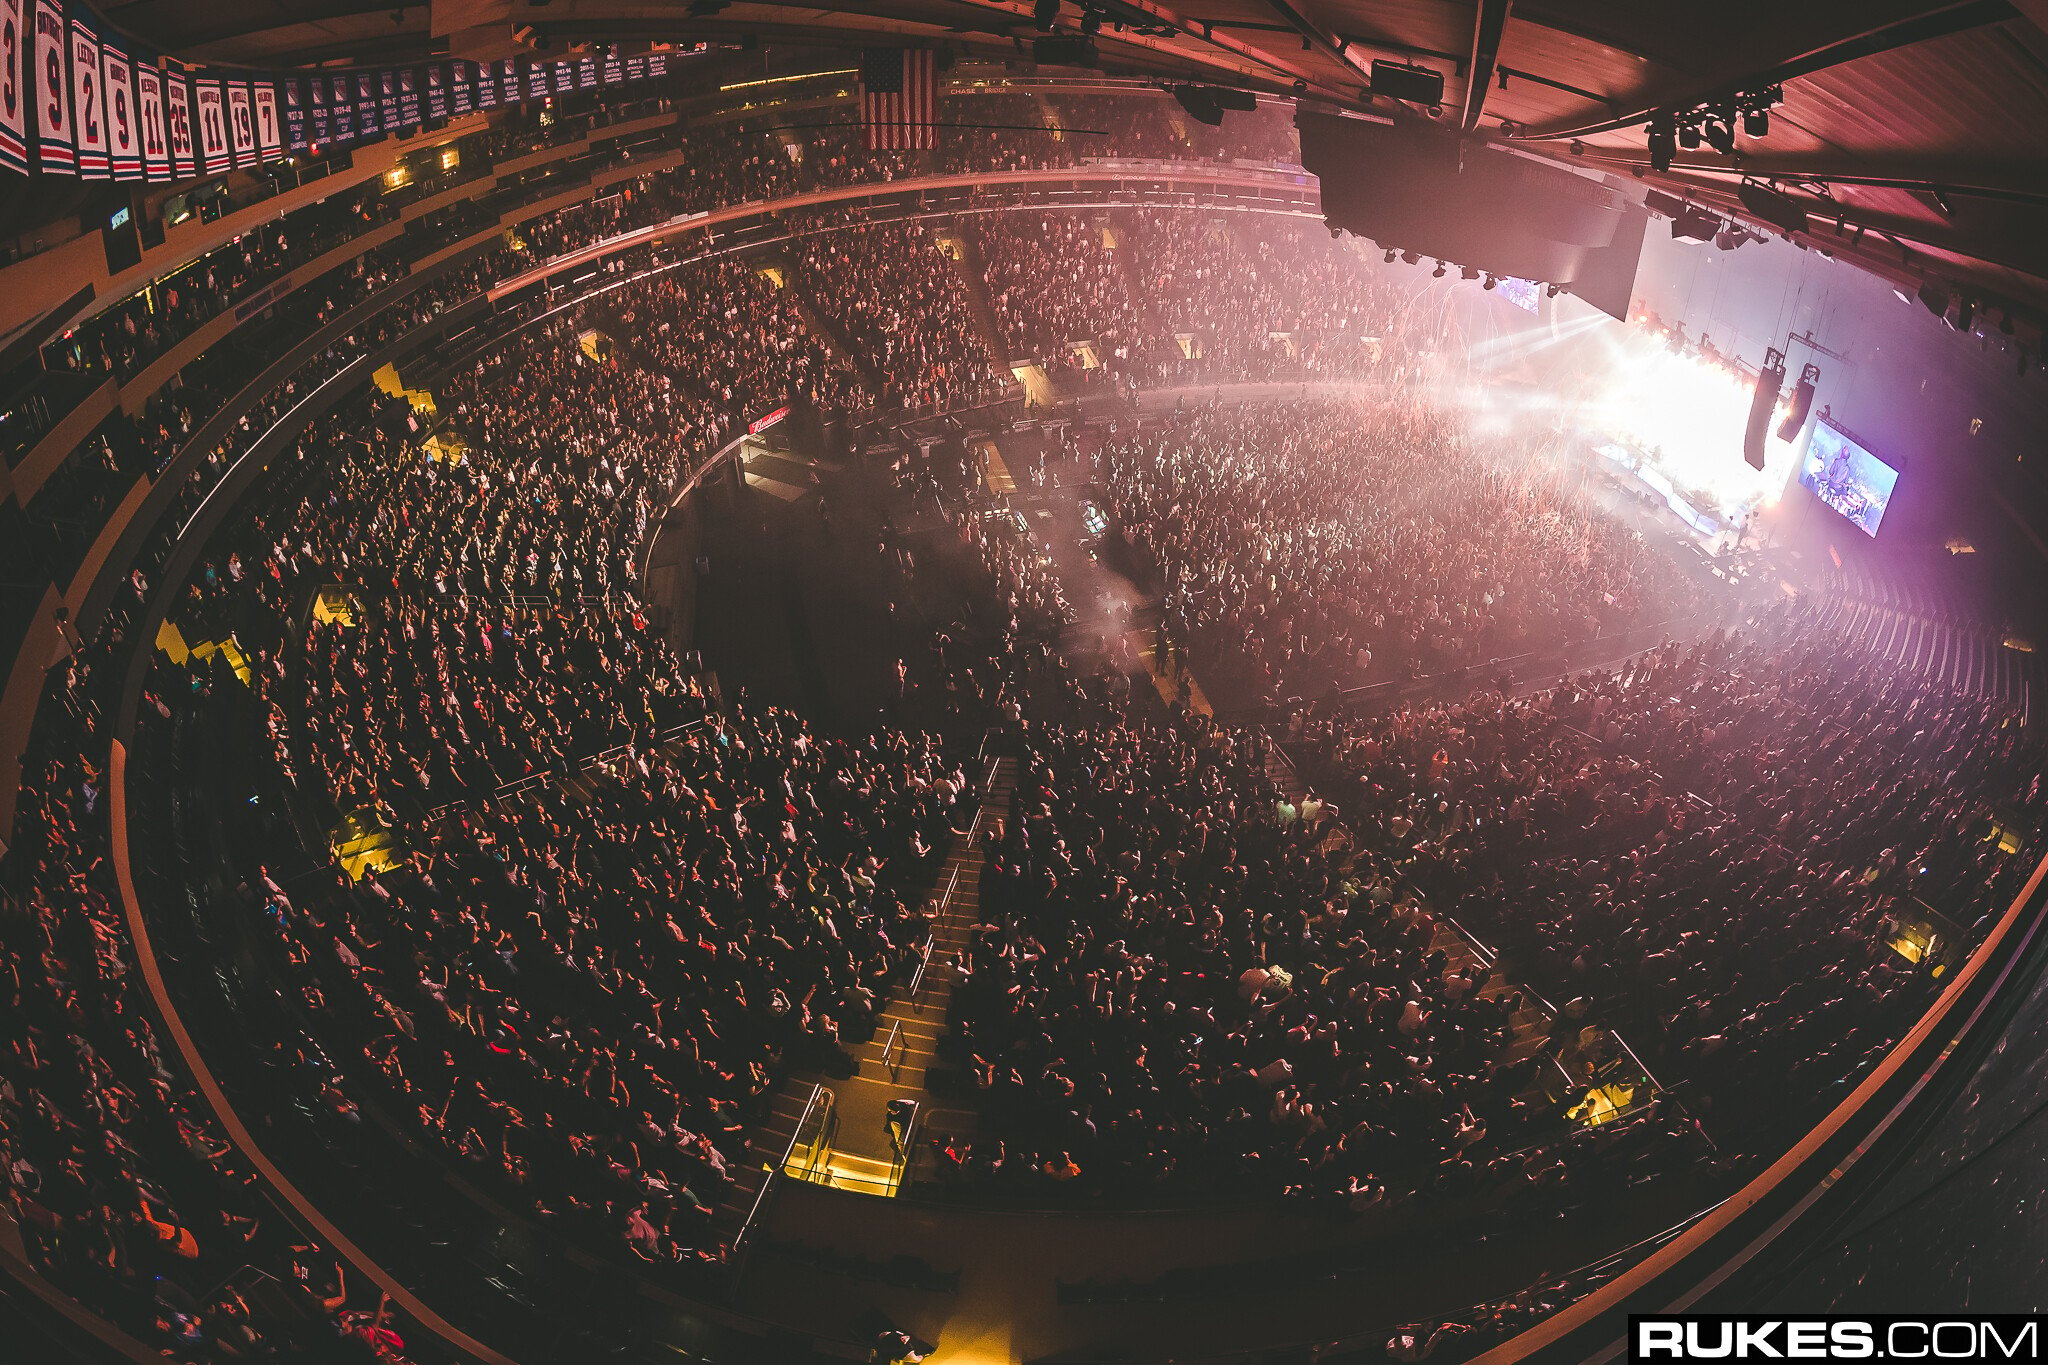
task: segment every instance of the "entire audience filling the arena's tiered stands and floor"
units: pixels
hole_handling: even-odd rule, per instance
[[[1040,100],[977,98],[991,123],[1042,127]],[[1051,106],[1067,129],[1114,113]],[[676,172],[524,225],[252,405],[166,526],[311,387],[442,305],[676,213],[874,174],[856,137],[831,121],[791,153],[762,129],[707,135]],[[1286,153],[1268,115],[1212,133],[1153,108],[1118,141]],[[1077,131],[979,129],[883,170],[1106,151]],[[1483,440],[1407,389],[1399,291],[1319,229],[995,215],[950,250],[913,223],[791,229],[772,258],[623,280],[455,366],[432,446],[403,397],[315,420],[180,585],[172,620],[190,641],[240,641],[246,673],[219,651],[180,690],[154,688],[143,749],[158,722],[244,726],[313,827],[348,817],[401,841],[360,876],[315,849],[289,888],[262,849],[227,870],[258,966],[319,1036],[299,1054],[303,1099],[336,1121],[373,1107],[522,1218],[604,1252],[725,1259],[717,1209],[776,1087],[844,1072],[920,964],[987,726],[1018,780],[1008,819],[981,825],[979,923],[944,964],[948,1048],[981,1132],[938,1156],[946,1179],[1032,1197],[1550,1212],[1694,1160],[1706,1132],[1761,1152],[1925,1003],[1927,976],[1886,948],[1915,907],[1968,931],[2015,890],[2019,864],[1989,835],[2044,804],[2025,729],[1876,677],[1802,618],[1526,696],[1300,706],[1268,735],[1159,704],[1114,669],[1077,673],[1057,569],[1028,522],[1010,534],[965,497],[969,460],[905,475],[954,518],[983,598],[985,628],[932,645],[940,702],[840,735],[725,696],[641,600],[647,534],[682,481],[770,409],[973,405],[1014,391],[995,350],[1077,340],[1128,383],[1386,381],[1372,397],[1176,407],[1094,452],[1130,567],[1161,587],[1165,647],[1257,698],[1698,604],[1540,436]],[[201,303],[113,311],[74,358],[131,375],[313,246],[254,239],[193,282]],[[395,272],[350,266],[287,321],[330,321]],[[145,417],[139,458],[162,469],[233,381],[195,372]],[[166,551],[168,532],[143,563]],[[137,569],[119,616],[147,591]],[[315,593],[340,610],[309,612]],[[115,643],[72,663],[72,698]],[[94,706],[45,710],[0,956],[23,1019],[0,1066],[0,1160],[37,1263],[176,1359],[317,1359],[336,1342],[395,1359],[385,1308],[258,1199],[166,1056],[109,868]],[[1282,753],[1305,798],[1276,782]],[[1528,984],[1489,984],[1446,952],[1452,915]],[[1526,1046],[1538,993],[1567,1001],[1567,1021],[1630,1029],[1690,1083],[1690,1115],[1655,1101],[1597,1130],[1567,1121]],[[1589,1068],[1604,1038],[1581,1046]],[[283,1308],[238,1289],[225,1273],[242,1265],[285,1285]]]

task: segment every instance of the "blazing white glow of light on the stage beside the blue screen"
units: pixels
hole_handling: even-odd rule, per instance
[[[1606,383],[1587,405],[1587,426],[1640,456],[1692,505],[1733,518],[1767,508],[1784,493],[1796,446],[1778,440],[1778,422],[1763,446],[1763,469],[1743,460],[1743,428],[1755,375],[1720,360],[1671,350],[1651,332],[1634,332]]]

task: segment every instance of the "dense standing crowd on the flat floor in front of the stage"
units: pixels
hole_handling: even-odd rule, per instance
[[[1106,442],[1096,479],[1171,636],[1255,696],[1321,696],[1698,606],[1546,442],[1405,391],[1190,405]]]

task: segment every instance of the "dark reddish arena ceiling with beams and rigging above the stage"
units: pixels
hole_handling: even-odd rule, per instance
[[[1032,0],[106,0],[180,55],[258,65],[489,57],[518,41],[713,39],[946,45],[1026,57]],[[1087,12],[1094,10],[1094,18]],[[1298,92],[1432,117],[1372,94],[1372,61],[1444,76],[1434,117],[1741,213],[1741,178],[1812,215],[1808,244],[1909,284],[2048,311],[2048,0],[1063,0],[1104,72]],[[1475,76],[1477,74],[1477,76]],[[1765,137],[1649,168],[1645,125],[1782,86]],[[1911,293],[1911,291],[1909,291]],[[2030,319],[2032,321],[2032,319]]]

